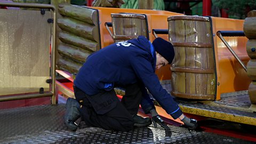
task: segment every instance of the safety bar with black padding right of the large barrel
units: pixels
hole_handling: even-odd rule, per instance
[[[237,59],[237,61],[240,63],[240,65],[244,68],[244,70],[247,72],[247,68],[244,65],[243,61],[238,58],[237,54],[233,49],[230,47],[230,45],[227,43],[227,41],[223,38],[223,36],[231,37],[231,36],[245,36],[244,31],[217,31],[217,36],[221,39],[221,41],[227,46],[228,50],[234,55],[234,57]]]

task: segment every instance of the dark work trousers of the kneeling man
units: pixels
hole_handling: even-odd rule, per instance
[[[142,95],[138,84],[126,86],[125,89],[126,95],[121,103],[114,90],[87,95],[74,86],[76,100],[81,105],[81,117],[86,125],[106,130],[132,130],[132,115],[138,113]]]

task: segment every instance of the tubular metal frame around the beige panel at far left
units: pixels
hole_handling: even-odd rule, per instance
[[[21,99],[31,99],[31,98],[40,98],[40,97],[51,97],[51,103],[56,104],[55,98],[55,42],[56,42],[56,9],[54,5],[49,4],[33,4],[33,3],[0,3],[0,6],[7,7],[28,7],[28,8],[38,8],[38,9],[51,9],[53,11],[53,36],[52,36],[52,57],[51,57],[51,74],[52,74],[52,84],[51,84],[51,93],[38,93],[38,94],[15,94],[8,97],[0,97],[0,101],[10,101],[10,100],[21,100]]]

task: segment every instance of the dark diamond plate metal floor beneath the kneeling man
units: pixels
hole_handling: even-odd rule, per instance
[[[253,143],[172,125],[171,132],[152,125],[130,132],[85,126],[70,132],[64,114],[64,104],[0,110],[0,143]]]

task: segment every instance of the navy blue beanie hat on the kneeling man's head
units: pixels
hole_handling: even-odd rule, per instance
[[[154,45],[156,52],[161,54],[169,64],[172,63],[174,58],[174,49],[171,43],[165,41],[161,37],[157,37],[152,44]]]

